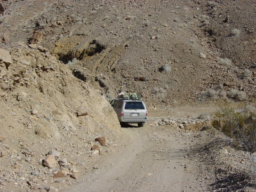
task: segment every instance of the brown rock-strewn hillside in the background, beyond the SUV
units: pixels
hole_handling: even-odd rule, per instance
[[[4,47],[40,44],[109,99],[124,89],[141,93],[150,106],[255,95],[253,1],[6,1],[3,7]]]

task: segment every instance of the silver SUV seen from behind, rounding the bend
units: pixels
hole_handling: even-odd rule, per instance
[[[120,124],[138,124],[143,127],[147,121],[147,108],[142,100],[114,99],[110,102]]]

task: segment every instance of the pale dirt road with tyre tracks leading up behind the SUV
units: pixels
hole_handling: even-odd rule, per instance
[[[200,163],[188,156],[195,132],[171,125],[122,131],[125,147],[98,159],[76,186],[63,191],[209,191]]]

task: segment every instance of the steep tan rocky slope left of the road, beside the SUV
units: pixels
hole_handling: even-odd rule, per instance
[[[12,188],[12,180],[22,188],[26,182],[34,187],[37,178],[52,177],[60,166],[43,166],[52,150],[57,161],[82,169],[91,147],[99,145],[95,138],[106,138],[102,153],[118,144],[122,133],[115,111],[61,61],[37,45],[17,45],[10,54],[0,51],[2,187]]]

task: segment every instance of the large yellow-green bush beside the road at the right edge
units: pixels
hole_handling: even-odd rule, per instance
[[[243,108],[224,106],[215,113],[212,126],[236,141],[237,147],[256,152],[256,113]]]

